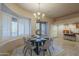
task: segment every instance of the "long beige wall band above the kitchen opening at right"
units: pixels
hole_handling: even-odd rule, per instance
[[[79,22],[79,13],[56,18],[54,24],[67,24]]]

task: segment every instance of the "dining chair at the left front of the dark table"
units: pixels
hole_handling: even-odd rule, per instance
[[[28,50],[30,50],[30,55],[32,56],[32,51],[33,49],[35,48],[34,46],[31,45],[31,42],[29,39],[23,37],[24,39],[24,48],[23,48],[23,53],[24,53],[24,56],[26,56],[26,53]],[[27,40],[26,40],[27,39]]]

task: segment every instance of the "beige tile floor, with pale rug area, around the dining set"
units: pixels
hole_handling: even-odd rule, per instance
[[[52,45],[54,50],[52,49]],[[79,42],[68,41],[63,38],[54,38],[52,45],[50,46],[52,56],[79,56]],[[22,51],[23,46],[18,47],[12,52],[12,56],[23,56]],[[27,53],[27,56],[28,55]],[[33,55],[36,56],[34,52]],[[49,56],[48,52],[46,52],[46,56]]]

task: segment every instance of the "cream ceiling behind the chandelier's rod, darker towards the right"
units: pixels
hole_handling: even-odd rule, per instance
[[[34,13],[39,11],[38,3],[20,3],[22,8]],[[40,3],[41,12],[50,18],[62,17],[79,12],[79,3]]]

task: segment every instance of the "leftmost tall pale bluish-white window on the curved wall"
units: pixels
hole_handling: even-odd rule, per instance
[[[10,37],[10,17],[4,14],[2,17],[2,38]]]

